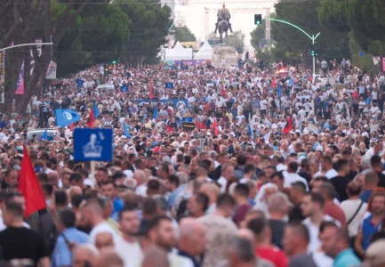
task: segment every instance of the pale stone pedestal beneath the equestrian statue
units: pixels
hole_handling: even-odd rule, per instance
[[[213,48],[213,67],[230,69],[232,66],[237,66],[237,64],[237,50],[233,46],[222,44]]]

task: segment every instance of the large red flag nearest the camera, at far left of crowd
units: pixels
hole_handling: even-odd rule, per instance
[[[44,209],[46,206],[43,190],[37,180],[35,170],[32,167],[31,159],[29,158],[28,150],[25,145],[23,148],[18,190],[20,190],[20,193],[26,199],[26,210],[24,211],[26,218],[30,214]]]

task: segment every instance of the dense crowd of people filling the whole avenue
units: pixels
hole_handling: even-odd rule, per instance
[[[385,77],[318,63],[315,81],[181,61],[44,86],[0,122],[2,266],[384,266]],[[113,129],[111,162],[74,160],[86,127]],[[26,150],[46,204],[28,217]]]

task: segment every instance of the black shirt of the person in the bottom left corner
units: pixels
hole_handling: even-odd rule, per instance
[[[0,232],[0,247],[3,248],[4,259],[28,259],[33,266],[49,255],[43,237],[36,231],[25,227],[8,227]]]

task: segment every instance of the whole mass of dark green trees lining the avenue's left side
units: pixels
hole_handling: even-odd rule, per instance
[[[44,84],[50,61],[58,75],[76,73],[97,63],[117,60],[132,64],[156,62],[171,25],[171,10],[158,0],[4,0],[0,3],[0,47],[34,43],[36,38],[53,45],[7,51],[4,93],[0,112],[11,112],[13,101],[24,112],[33,93]],[[51,51],[53,53],[51,53]],[[35,61],[29,74],[29,61]],[[25,61],[25,93],[14,95]]]

